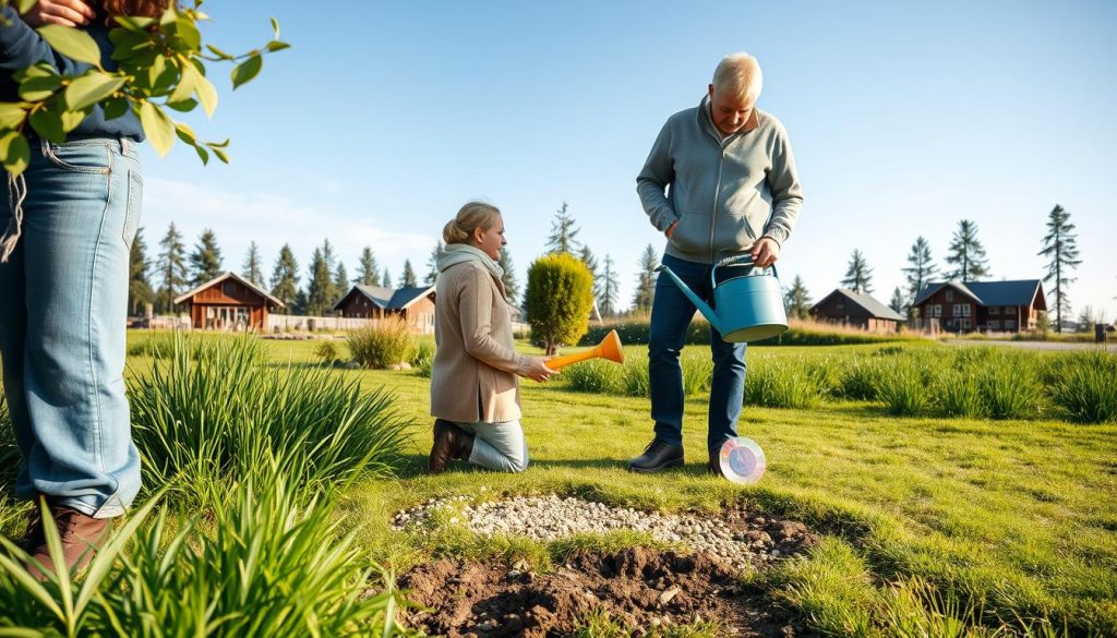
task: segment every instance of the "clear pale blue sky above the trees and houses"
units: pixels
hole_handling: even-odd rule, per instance
[[[325,6],[325,4],[323,4]],[[226,266],[250,240],[270,275],[323,239],[351,276],[372,246],[420,276],[461,203],[504,210],[521,280],[563,201],[631,299],[662,237],[636,175],[666,118],[701,98],[722,56],[765,73],[758,106],[785,125],[805,202],[780,260],[814,299],[859,248],[887,303],[916,237],[942,264],[977,223],[993,279],[1039,278],[1058,202],[1078,227],[1078,310],[1117,318],[1117,3],[211,1],[209,41],[247,49],[276,17],[293,48],[232,92],[216,73],[207,139],[232,165],[176,146],[145,155],[145,238],[212,228]],[[1108,79],[1107,79],[1108,78]],[[305,274],[304,274],[305,278]]]

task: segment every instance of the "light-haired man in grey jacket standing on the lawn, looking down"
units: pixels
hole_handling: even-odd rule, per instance
[[[637,178],[645,212],[667,236],[663,265],[712,306],[712,266],[745,253],[757,266],[774,264],[803,203],[787,133],[755,106],[762,85],[756,58],[726,56],[701,104],[668,118]],[[648,349],[656,438],[629,464],[632,472],[682,465],[679,353],[695,311],[678,286],[659,277]],[[726,343],[710,326],[710,350],[707,469],[720,474],[722,444],[737,436],[745,344]]]

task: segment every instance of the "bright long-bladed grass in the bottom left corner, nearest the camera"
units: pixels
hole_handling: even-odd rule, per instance
[[[36,582],[0,537],[0,601],[18,601],[0,604],[0,634],[391,636],[395,593],[365,596],[381,573],[341,533],[344,518],[319,501],[299,505],[288,487],[233,485],[210,521],[181,526],[154,514],[153,498],[76,580],[63,570]],[[49,523],[48,539],[60,552]]]

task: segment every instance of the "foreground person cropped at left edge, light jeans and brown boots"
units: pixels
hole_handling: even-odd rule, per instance
[[[19,101],[12,76],[31,65],[61,73],[89,68],[52,50],[32,27],[85,30],[112,69],[109,17],[155,17],[166,4],[41,0],[23,16],[3,7],[0,102]],[[22,456],[16,496],[46,501],[65,566],[79,569],[140,489],[123,373],[143,128],[132,112],[106,120],[97,106],[63,144],[27,132],[30,164],[19,177],[6,175],[9,206],[0,207],[0,358]],[[31,554],[38,578],[40,565],[56,569],[38,506],[19,545]]]

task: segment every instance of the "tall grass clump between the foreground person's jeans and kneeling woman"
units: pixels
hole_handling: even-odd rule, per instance
[[[278,465],[302,494],[391,474],[407,423],[383,390],[322,368],[266,365],[246,340],[193,361],[180,341],[130,383],[133,437],[151,485],[195,501]]]

